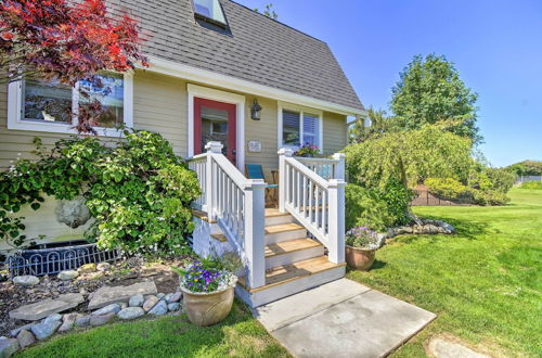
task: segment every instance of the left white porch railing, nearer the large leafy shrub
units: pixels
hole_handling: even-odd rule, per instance
[[[261,179],[246,179],[222,154],[222,144],[209,142],[206,153],[189,159],[203,194],[194,206],[216,219],[228,241],[246,264],[249,287],[266,284],[264,189]]]

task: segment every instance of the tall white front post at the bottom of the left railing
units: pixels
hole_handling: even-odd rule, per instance
[[[266,182],[253,179],[245,189],[245,254],[247,283],[251,289],[266,285]]]

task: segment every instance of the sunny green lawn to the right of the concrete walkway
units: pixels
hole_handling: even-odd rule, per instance
[[[542,192],[511,197],[501,207],[416,207],[457,234],[397,236],[370,272],[348,273],[438,315],[395,357],[424,357],[434,335],[498,356],[542,356]]]

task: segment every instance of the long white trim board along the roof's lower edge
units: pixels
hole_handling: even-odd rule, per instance
[[[269,86],[250,82],[248,80],[238,79],[232,76],[218,74],[208,69],[196,68],[176,63],[173,61],[163,60],[156,56],[149,56],[149,68],[142,66],[140,66],[140,68],[188,80],[198,81],[215,87],[222,87],[237,92],[246,92],[256,97],[266,97],[279,101],[295,102],[299,105],[305,105],[322,111],[328,111],[344,115],[365,116],[367,114],[367,112],[363,110],[313,99],[308,95],[288,92]]]

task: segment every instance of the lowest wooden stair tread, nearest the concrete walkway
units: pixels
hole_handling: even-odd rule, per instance
[[[248,289],[244,278],[240,278],[238,282],[246,291],[255,293],[343,266],[346,266],[346,263],[337,265],[330,263],[327,256],[320,256],[267,270],[266,285],[261,287]]]

